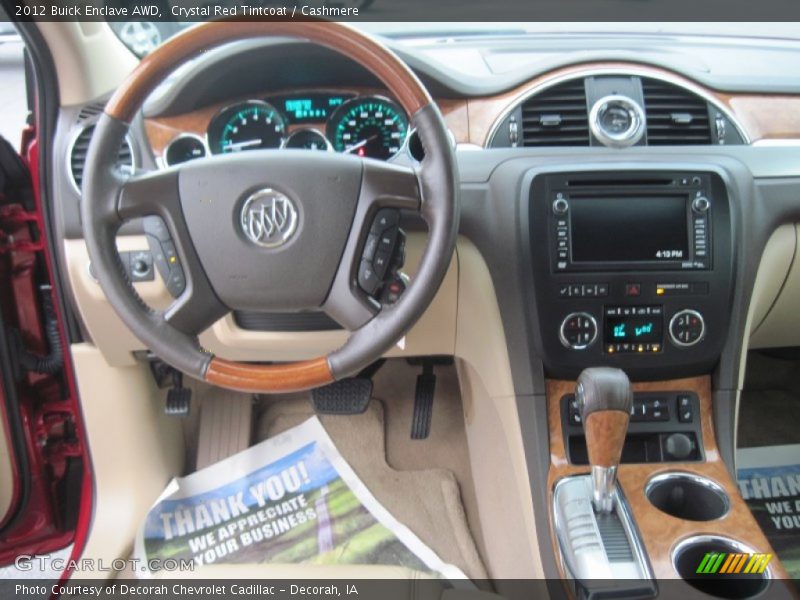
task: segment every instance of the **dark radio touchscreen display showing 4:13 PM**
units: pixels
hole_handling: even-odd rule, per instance
[[[686,196],[572,196],[572,261],[689,260],[686,203]]]

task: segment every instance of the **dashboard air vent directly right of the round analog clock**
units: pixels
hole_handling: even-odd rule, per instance
[[[711,144],[708,103],[682,87],[642,78],[649,146]]]

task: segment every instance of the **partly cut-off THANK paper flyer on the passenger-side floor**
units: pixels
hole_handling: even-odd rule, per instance
[[[737,462],[742,497],[784,568],[800,579],[800,445],[744,448]]]

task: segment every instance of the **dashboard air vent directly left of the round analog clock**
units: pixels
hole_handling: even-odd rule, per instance
[[[583,79],[555,85],[522,104],[522,145],[589,145]]]

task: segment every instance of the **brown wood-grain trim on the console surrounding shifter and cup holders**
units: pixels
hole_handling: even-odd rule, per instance
[[[634,391],[691,391],[700,399],[700,424],[703,435],[703,449],[706,460],[703,463],[660,463],[623,464],[618,471],[619,482],[631,508],[631,513],[639,528],[642,541],[657,579],[676,579],[678,574],[672,567],[672,549],[683,539],[692,535],[718,534],[739,540],[757,552],[774,554],[769,541],[756,523],[750,509],[739,495],[736,483],[720,457],[714,435],[711,406],[711,380],[709,377],[676,379],[633,384]],[[552,506],[553,486],[568,475],[588,473],[586,466],[569,464],[564,449],[561,429],[559,401],[565,394],[575,391],[572,381],[547,381],[547,418],[550,429],[550,472],[548,476],[548,510]],[[703,475],[715,481],[728,493],[731,509],[728,514],[715,521],[684,521],[661,512],[653,506],[644,494],[645,485],[651,477],[668,471],[683,471]],[[552,519],[552,515],[551,515]],[[555,535],[552,530],[551,542],[558,553]],[[777,558],[770,563],[773,576],[778,579],[788,577]],[[779,582],[778,582],[779,583]],[[687,592],[692,591],[687,585]],[[791,594],[788,596],[791,597]]]

